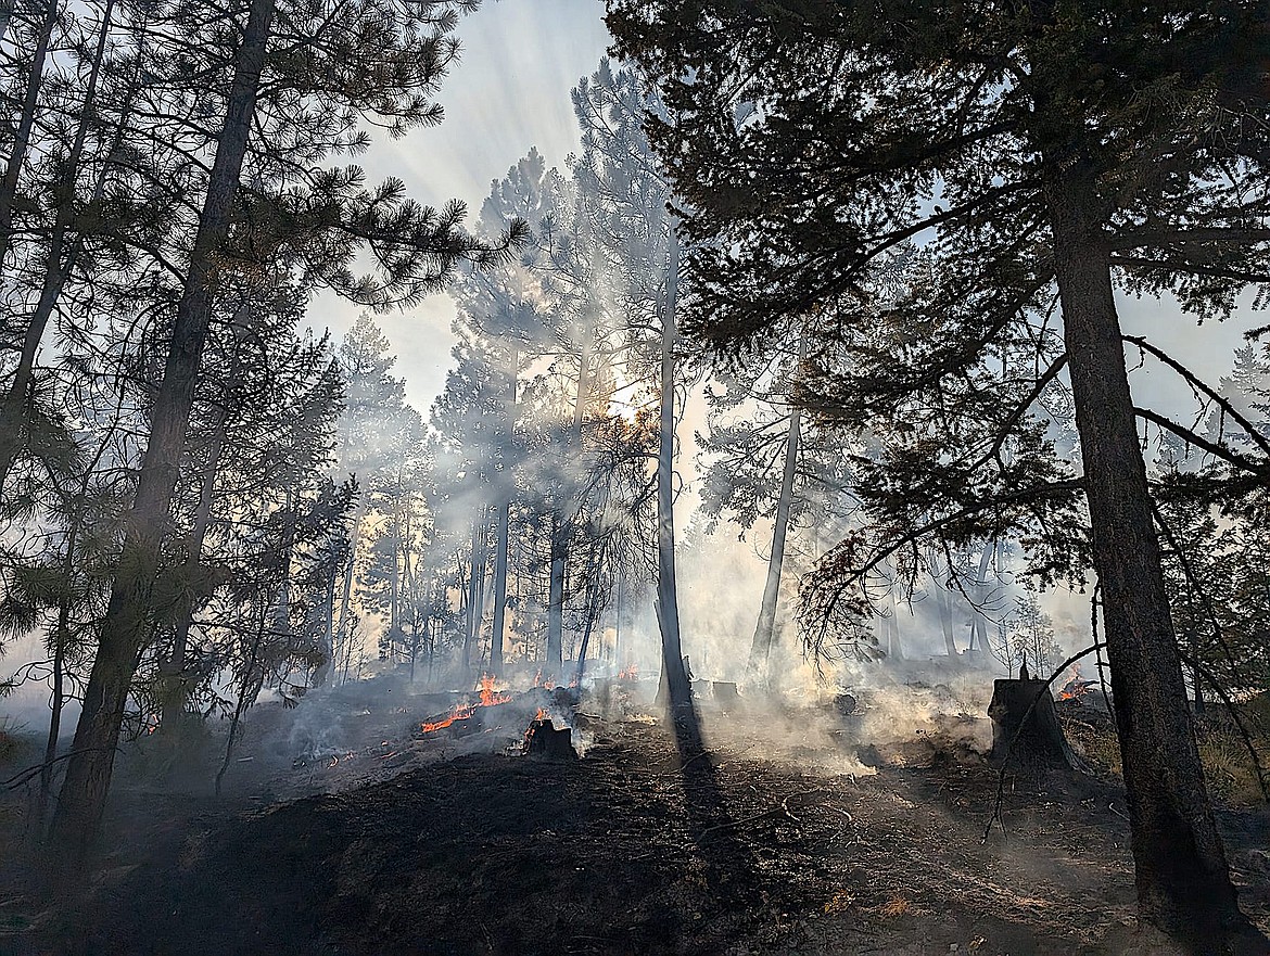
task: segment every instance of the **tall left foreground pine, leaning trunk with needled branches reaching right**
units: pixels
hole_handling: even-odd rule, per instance
[[[461,204],[441,212],[423,208],[405,199],[400,183],[367,190],[356,168],[318,166],[331,152],[364,142],[358,129],[363,109],[396,132],[439,118],[429,95],[456,52],[447,37],[456,10],[470,4],[344,4],[329,17],[279,3],[277,28],[278,3],[251,0],[246,9],[229,11],[229,28],[213,30],[234,51],[229,69],[216,75],[225,85],[216,104],[217,132],[207,143],[215,159],[201,201],[193,203],[198,223],[155,394],[130,531],[55,818],[55,835],[65,851],[60,865],[70,879],[83,872],[79,863],[97,833],[132,674],[151,637],[168,512],[225,274],[293,270],[356,301],[387,306],[413,302],[437,288],[465,255],[500,254],[458,227]],[[316,42],[319,36],[329,42]],[[295,43],[297,37],[304,42]],[[185,51],[171,52],[175,62]],[[250,149],[253,137],[258,151]],[[288,146],[304,157],[300,168],[318,168],[307,182],[296,182],[296,150]],[[251,178],[240,188],[244,173]],[[358,279],[349,263],[363,244],[373,248],[380,272]]]

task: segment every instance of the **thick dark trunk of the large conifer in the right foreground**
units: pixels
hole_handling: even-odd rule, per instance
[[[1046,201],[1090,508],[1139,917],[1217,952],[1243,926],[1186,707],[1151,490],[1092,182],[1053,173]]]

